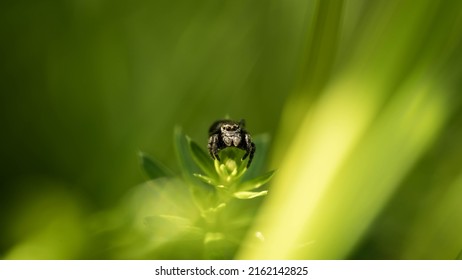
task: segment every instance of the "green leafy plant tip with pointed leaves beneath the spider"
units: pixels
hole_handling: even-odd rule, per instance
[[[226,148],[220,151],[220,161],[213,160],[180,128],[175,129],[174,142],[181,176],[140,153],[143,169],[158,196],[152,202],[158,207],[143,211],[154,240],[152,250],[156,253],[152,256],[232,258],[248,234],[261,198],[268,193],[264,185],[274,174],[257,175],[264,167],[269,137],[255,137],[257,153],[249,168],[248,158],[241,160],[244,151]],[[261,232],[254,236],[263,238]]]

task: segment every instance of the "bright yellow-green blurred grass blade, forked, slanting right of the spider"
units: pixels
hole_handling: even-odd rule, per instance
[[[275,178],[262,212],[272,219],[255,225],[268,242],[242,258],[345,258],[448,114],[445,92],[421,79],[403,85],[367,133],[358,123],[369,120],[356,118],[370,108],[353,109],[335,98],[325,102],[317,114],[307,114]],[[344,114],[339,106],[355,111]],[[287,218],[294,215],[296,223]]]

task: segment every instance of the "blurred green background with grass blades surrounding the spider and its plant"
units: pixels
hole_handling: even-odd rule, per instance
[[[1,258],[133,258],[95,232],[138,151],[225,115],[278,169],[236,258],[462,250],[462,2],[2,1],[0,38]]]

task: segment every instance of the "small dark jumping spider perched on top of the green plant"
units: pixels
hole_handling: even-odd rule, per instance
[[[208,149],[212,158],[220,160],[218,152],[228,147],[236,147],[245,151],[242,160],[249,157],[247,167],[252,162],[255,153],[255,144],[250,134],[245,130],[245,121],[219,120],[209,129]]]

